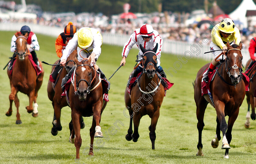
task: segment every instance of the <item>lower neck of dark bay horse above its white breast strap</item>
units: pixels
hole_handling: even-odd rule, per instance
[[[139,80],[139,85],[141,89],[151,90],[151,88],[155,88],[158,85],[158,76],[154,75],[152,79],[148,78],[146,73],[142,74]]]

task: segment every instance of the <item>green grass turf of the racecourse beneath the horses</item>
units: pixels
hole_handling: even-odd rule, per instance
[[[11,37],[14,32],[0,32],[0,65],[2,68],[9,61]],[[55,53],[55,38],[37,35],[40,44],[40,51],[37,52],[39,60],[54,63],[58,57]],[[184,52],[187,50],[184,50]],[[104,44],[102,53],[97,64],[109,78],[119,67],[121,61],[122,47]],[[192,82],[195,80],[197,71],[208,61],[198,58],[191,58],[187,63],[182,63],[180,69],[175,69],[173,76],[167,74],[167,78],[174,85],[167,91],[163,100],[160,117],[156,129],[155,150],[151,149],[148,126],[150,118],[142,117],[139,126],[140,138],[137,142],[126,141],[125,135],[129,127],[129,119],[123,114],[125,108],[124,90],[135,65],[137,49],[132,49],[126,65],[110,79],[111,90],[109,92],[109,102],[102,113],[101,131],[104,137],[101,147],[96,146],[94,156],[90,157],[84,153],[90,144],[89,129],[92,117],[84,117],[86,127],[81,130],[82,146],[80,149],[80,160],[75,161],[75,146],[69,143],[69,121],[71,110],[69,107],[62,109],[61,123],[62,131],[57,136],[52,136],[52,103],[47,96],[47,83],[51,66],[43,65],[45,74],[44,82],[39,90],[37,103],[39,105],[39,116],[34,118],[27,113],[25,107],[28,105],[28,97],[23,93],[18,93],[20,99],[20,114],[22,124],[16,125],[16,108],[13,103],[13,114],[5,116],[9,109],[10,85],[6,70],[0,74],[0,163],[255,163],[255,121],[251,120],[251,128],[245,129],[244,123],[247,112],[247,104],[244,101],[240,108],[239,116],[233,127],[233,138],[229,159],[223,159],[224,150],[220,146],[212,148],[211,141],[215,137],[216,112],[208,105],[204,117],[204,130],[202,134],[203,157],[197,157],[197,119],[196,106],[194,103],[194,90]],[[185,59],[183,58],[185,61]],[[161,65],[165,69],[174,66],[176,61],[180,61],[177,56],[162,53]],[[227,119],[227,118],[226,118]],[[120,129],[116,129],[116,134],[108,132],[110,127],[119,120]],[[108,134],[108,135],[107,135]],[[97,141],[96,138],[94,140]],[[104,145],[103,145],[104,144]],[[84,151],[83,151],[84,150]],[[97,150],[97,151],[96,151]]]

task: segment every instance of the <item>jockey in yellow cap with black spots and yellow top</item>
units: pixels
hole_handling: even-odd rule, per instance
[[[212,72],[216,65],[219,62],[215,61],[215,58],[219,56],[222,52],[225,54],[227,52],[227,42],[230,45],[237,44],[239,45],[241,42],[241,36],[239,29],[235,26],[235,23],[230,18],[222,19],[219,24],[216,24],[212,29],[212,42],[210,44],[210,51],[214,55],[214,59],[212,60],[207,72],[203,76],[203,81],[208,83],[208,73]],[[223,51],[216,51],[216,50],[223,50]],[[220,56],[218,59],[222,59]]]

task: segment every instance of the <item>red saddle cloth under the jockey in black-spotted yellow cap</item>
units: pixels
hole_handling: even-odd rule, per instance
[[[207,68],[208,69],[208,68]],[[207,71],[207,69],[205,70],[205,72]],[[204,73],[205,73],[204,72]],[[208,90],[209,92],[211,92],[211,89],[210,89],[210,84],[212,82],[212,78],[213,78],[213,75],[215,74],[216,72],[216,69],[213,70],[212,72],[209,72],[208,73],[208,78],[209,78],[209,82],[208,83],[205,83],[202,79],[201,81],[201,93],[202,93],[202,96],[204,94],[208,94]],[[245,75],[244,73],[242,73],[242,79],[244,80],[244,84],[245,84],[245,91],[249,91],[249,77],[247,75]]]

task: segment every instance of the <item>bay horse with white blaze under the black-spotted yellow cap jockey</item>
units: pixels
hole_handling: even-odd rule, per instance
[[[204,71],[209,67],[210,63],[204,65],[197,73],[194,83],[194,99],[197,106],[197,129],[198,129],[198,156],[203,156],[202,131],[204,128],[204,112],[210,103],[217,113],[217,127],[215,139],[212,140],[212,147],[217,148],[221,139],[220,131],[222,131],[222,149],[225,149],[224,158],[229,158],[230,142],[232,139],[232,127],[239,113],[239,107],[245,97],[245,84],[242,80],[242,43],[239,46],[227,43],[226,60],[220,65],[218,75],[210,84],[213,102],[211,102],[208,94],[201,95],[201,82]],[[229,116],[228,124],[225,116]]]

